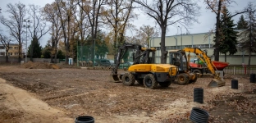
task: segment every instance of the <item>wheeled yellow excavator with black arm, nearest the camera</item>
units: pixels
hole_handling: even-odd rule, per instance
[[[128,72],[118,74],[117,71],[121,59],[128,49],[136,50],[133,55],[134,64],[128,68]],[[149,89],[157,88],[158,84],[162,87],[168,87],[171,82],[176,80],[178,68],[170,64],[155,64],[155,51],[155,48],[142,48],[142,46],[138,44],[124,43],[118,48],[115,66],[112,68],[112,80],[114,82],[121,81],[127,86],[131,86],[137,81],[139,84],[144,84],[145,88]]]

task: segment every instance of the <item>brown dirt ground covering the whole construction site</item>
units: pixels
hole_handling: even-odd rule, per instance
[[[78,116],[96,123],[189,123],[192,107],[208,111],[209,122],[256,122],[256,83],[249,75],[226,74],[226,85],[213,89],[207,87],[213,76],[145,89],[109,82],[111,71],[44,67],[0,66],[1,123],[73,123]],[[238,89],[231,89],[232,79]],[[203,88],[203,104],[194,103],[194,88]]]

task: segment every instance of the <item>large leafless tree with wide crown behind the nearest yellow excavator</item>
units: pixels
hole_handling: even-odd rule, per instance
[[[152,17],[161,28],[161,63],[167,63],[165,36],[168,25],[181,25],[187,28],[199,16],[198,1],[195,0],[134,0],[144,7],[144,11]]]

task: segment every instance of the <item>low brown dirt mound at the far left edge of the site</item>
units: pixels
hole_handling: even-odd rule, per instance
[[[60,69],[56,64],[49,64],[45,62],[27,62],[21,65],[21,68],[27,69]]]

